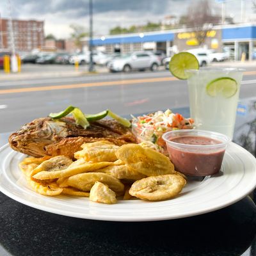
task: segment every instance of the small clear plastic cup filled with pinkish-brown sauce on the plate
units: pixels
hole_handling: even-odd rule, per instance
[[[230,138],[211,131],[177,130],[163,134],[175,170],[186,175],[207,176],[220,172]]]

